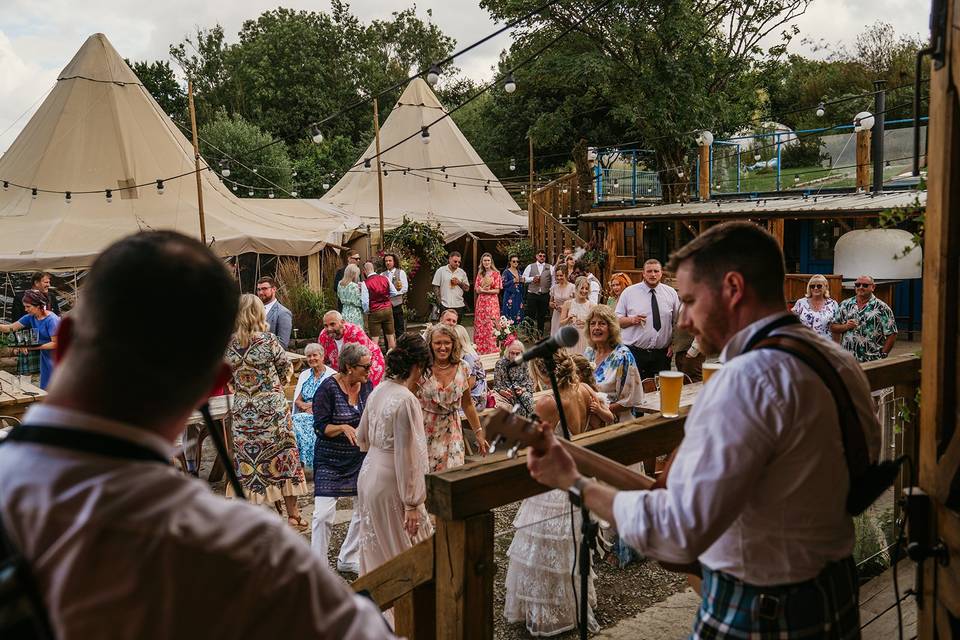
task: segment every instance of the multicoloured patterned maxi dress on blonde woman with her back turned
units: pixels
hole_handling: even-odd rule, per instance
[[[233,368],[233,441],[237,475],[247,500],[271,503],[307,492],[282,381],[293,369],[272,333],[257,333],[242,347],[227,346]],[[233,490],[227,484],[227,495]]]

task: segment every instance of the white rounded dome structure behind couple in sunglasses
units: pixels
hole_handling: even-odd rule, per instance
[[[874,280],[910,280],[921,277],[922,264],[922,249],[914,246],[913,235],[902,229],[849,231],[834,248],[833,272],[844,280],[861,275]]]

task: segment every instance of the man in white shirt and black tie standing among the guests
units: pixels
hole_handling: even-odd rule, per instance
[[[623,343],[630,348],[641,378],[652,378],[670,369],[673,355],[673,325],[680,311],[680,298],[673,287],[660,280],[659,260],[643,263],[643,282],[632,284],[617,301],[616,314]]]

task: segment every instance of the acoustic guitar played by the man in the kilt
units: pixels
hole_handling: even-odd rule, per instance
[[[504,443],[512,443],[507,451],[507,456],[510,458],[516,456],[521,446],[530,447],[538,453],[546,451],[546,436],[537,428],[536,423],[528,418],[505,409],[494,409],[485,411],[480,421],[483,423],[487,437],[490,438],[490,453]],[[665,489],[670,464],[676,455],[676,451],[670,454],[663,471],[657,479],[654,479],[564,438],[557,438],[557,441],[573,458],[581,474],[596,478],[621,491]],[[658,563],[667,571],[686,574],[690,586],[698,594],[700,593],[700,563],[673,564],[660,561]]]

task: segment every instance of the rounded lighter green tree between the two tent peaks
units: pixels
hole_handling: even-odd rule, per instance
[[[200,154],[218,174],[223,170],[221,160],[238,158],[238,161],[229,161],[230,175],[224,179],[231,189],[236,187],[236,195],[251,197],[252,190],[254,198],[267,197],[270,191],[284,197],[284,190],[293,190],[293,168],[286,147],[283,144],[267,146],[272,138],[242,116],[228,115],[226,109],[221,108],[212,121],[200,127],[199,134]],[[247,153],[257,148],[260,150]]]

